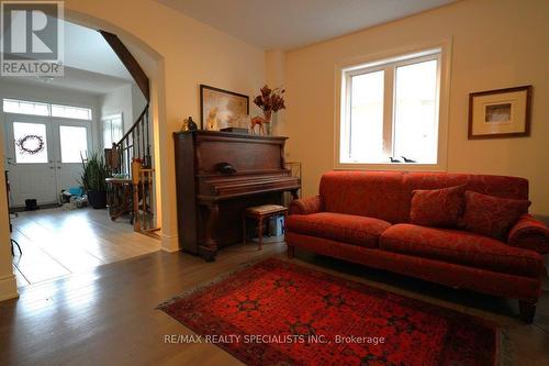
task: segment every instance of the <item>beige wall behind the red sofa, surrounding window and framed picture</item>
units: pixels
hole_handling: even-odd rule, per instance
[[[304,195],[334,167],[335,66],[451,37],[448,170],[530,180],[534,213],[549,217],[549,2],[468,0],[287,53],[290,159],[303,163]],[[533,85],[531,136],[468,141],[468,95]]]

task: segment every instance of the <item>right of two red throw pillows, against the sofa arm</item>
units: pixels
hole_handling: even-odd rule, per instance
[[[528,212],[530,201],[466,191],[466,230],[505,241],[513,225]]]

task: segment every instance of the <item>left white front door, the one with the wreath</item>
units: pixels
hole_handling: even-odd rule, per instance
[[[7,114],[5,149],[10,206],[57,202],[54,137],[48,119]]]

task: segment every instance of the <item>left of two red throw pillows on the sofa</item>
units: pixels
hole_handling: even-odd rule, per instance
[[[425,226],[457,226],[463,215],[466,186],[415,189],[412,192],[412,223]]]

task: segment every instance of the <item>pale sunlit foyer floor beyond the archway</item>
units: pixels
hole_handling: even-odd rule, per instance
[[[160,243],[112,222],[105,210],[60,208],[21,212],[12,220],[18,287],[38,284],[98,266],[156,252]]]

